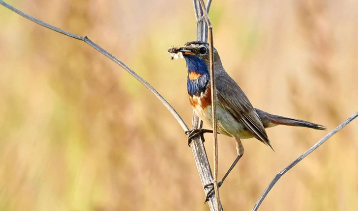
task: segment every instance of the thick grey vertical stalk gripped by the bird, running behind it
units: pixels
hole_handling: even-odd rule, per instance
[[[204,12],[201,6],[201,3],[199,0],[193,0],[194,3],[194,10],[195,10],[195,16],[197,20],[197,40],[199,41],[208,41],[208,25],[205,22],[204,19]],[[209,11],[209,7],[211,4],[211,0],[208,0],[206,10]],[[199,119],[199,117],[193,113],[193,123],[192,127],[193,129],[201,128],[203,125],[203,122]],[[191,142],[191,149],[193,151],[193,155],[196,161],[196,165],[198,168],[199,176],[202,181],[203,187],[205,185],[208,185],[212,183],[213,177],[209,165],[208,156],[205,152],[205,147],[203,144],[204,137],[195,137]],[[204,188],[205,193],[207,194],[209,192],[209,189]],[[216,194],[212,194],[209,197],[209,208],[211,211],[222,211],[221,202],[219,200],[219,203],[216,203],[215,200]]]

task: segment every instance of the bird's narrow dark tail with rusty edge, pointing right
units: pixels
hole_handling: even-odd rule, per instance
[[[327,130],[326,126],[323,125],[318,125],[312,122],[307,122],[299,119],[292,119],[283,116],[269,114],[257,108],[256,108],[256,112],[257,114],[259,114],[259,117],[265,128],[274,127],[276,125],[288,125],[288,126],[312,128],[315,130]]]

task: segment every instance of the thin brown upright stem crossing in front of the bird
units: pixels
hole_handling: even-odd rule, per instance
[[[208,2],[209,3],[209,2]],[[220,197],[219,187],[217,185],[217,167],[218,167],[218,150],[217,150],[217,122],[216,122],[216,87],[215,87],[215,75],[214,75],[214,47],[212,40],[212,26],[210,23],[208,11],[205,8],[204,0],[200,0],[201,8],[204,11],[204,17],[209,27],[208,40],[209,40],[209,56],[210,56],[210,86],[211,86],[211,112],[212,112],[212,129],[214,134],[214,180],[212,181],[215,190],[215,200],[217,210],[220,209]],[[209,3],[210,4],[210,3]]]

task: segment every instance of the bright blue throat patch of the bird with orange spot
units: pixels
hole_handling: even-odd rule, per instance
[[[186,80],[186,87],[190,96],[199,95],[207,88],[210,81],[208,73],[208,66],[203,59],[195,55],[185,55],[186,66],[188,67],[188,78]],[[189,79],[189,74],[194,73],[198,75],[196,79]]]

